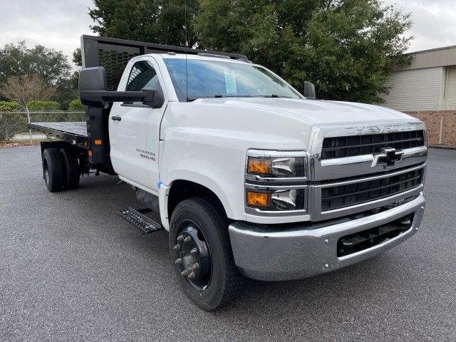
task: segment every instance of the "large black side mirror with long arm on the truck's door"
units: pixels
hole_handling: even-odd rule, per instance
[[[165,96],[161,89],[142,91],[110,91],[106,85],[105,69],[96,66],[83,68],[79,73],[79,97],[83,105],[106,108],[110,102],[142,102],[153,108],[162,107]]]

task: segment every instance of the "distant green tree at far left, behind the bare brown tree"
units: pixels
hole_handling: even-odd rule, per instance
[[[24,41],[0,48],[0,84],[10,76],[36,74],[44,82],[56,85],[66,79],[71,70],[62,51],[36,45],[27,48]]]

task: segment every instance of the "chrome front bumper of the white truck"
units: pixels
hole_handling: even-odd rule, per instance
[[[302,279],[354,264],[400,244],[418,230],[425,207],[424,192],[398,207],[356,219],[271,229],[261,224],[229,225],[234,262],[245,276],[259,280]],[[413,215],[410,229],[361,252],[337,256],[338,239],[348,234]]]

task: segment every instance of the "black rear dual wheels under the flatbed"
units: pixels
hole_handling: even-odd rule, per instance
[[[70,148],[46,148],[43,151],[43,178],[50,192],[73,190],[79,186],[79,163]]]

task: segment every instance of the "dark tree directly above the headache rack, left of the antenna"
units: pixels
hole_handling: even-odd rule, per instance
[[[187,3],[187,32],[185,4]],[[93,0],[89,9],[95,25],[90,26],[100,36],[185,46],[195,46],[197,36],[193,19],[197,0]]]

